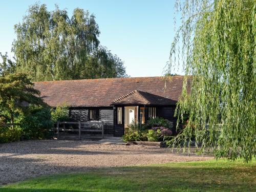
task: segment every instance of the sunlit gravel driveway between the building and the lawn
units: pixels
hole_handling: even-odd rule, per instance
[[[31,140],[0,144],[0,184],[40,175],[82,172],[92,168],[212,157],[173,154],[168,148],[142,145],[101,144],[96,141]]]

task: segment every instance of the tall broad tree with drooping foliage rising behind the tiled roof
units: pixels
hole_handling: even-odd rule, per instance
[[[12,51],[19,65],[17,71],[33,81],[97,78],[102,76],[101,69],[106,71],[104,77],[125,74],[123,65],[121,71],[115,68],[119,58],[112,62],[106,57],[109,65],[98,59],[103,49],[99,46],[100,31],[95,16],[88,11],[76,8],[69,18],[58,6],[50,12],[46,5],[34,4],[14,29],[17,38]]]

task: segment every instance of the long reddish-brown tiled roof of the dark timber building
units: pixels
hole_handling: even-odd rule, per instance
[[[110,106],[115,100],[117,103],[117,101],[128,102],[129,99],[134,101],[137,99],[143,104],[145,102],[173,104],[179,99],[182,85],[183,76],[173,76],[172,81],[166,83],[161,77],[35,82],[35,88],[41,92],[41,97],[50,106],[64,103],[68,106]],[[126,94],[134,96],[128,98]],[[123,96],[125,99],[121,101],[120,98]]]

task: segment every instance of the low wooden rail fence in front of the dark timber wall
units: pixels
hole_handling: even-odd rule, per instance
[[[67,124],[78,125],[78,129],[66,129]],[[59,125],[63,125],[60,127]],[[101,138],[104,138],[104,123],[101,121],[87,121],[87,122],[73,122],[73,121],[63,121],[57,122],[57,139],[60,138],[60,131],[66,132],[78,132],[78,140],[81,140],[82,132],[90,133],[101,133]]]

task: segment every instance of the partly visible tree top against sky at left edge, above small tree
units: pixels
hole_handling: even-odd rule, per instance
[[[3,55],[0,52],[0,56],[2,57],[3,60],[3,62],[0,63],[0,76],[14,73],[16,70],[16,63],[8,57],[7,53]]]

